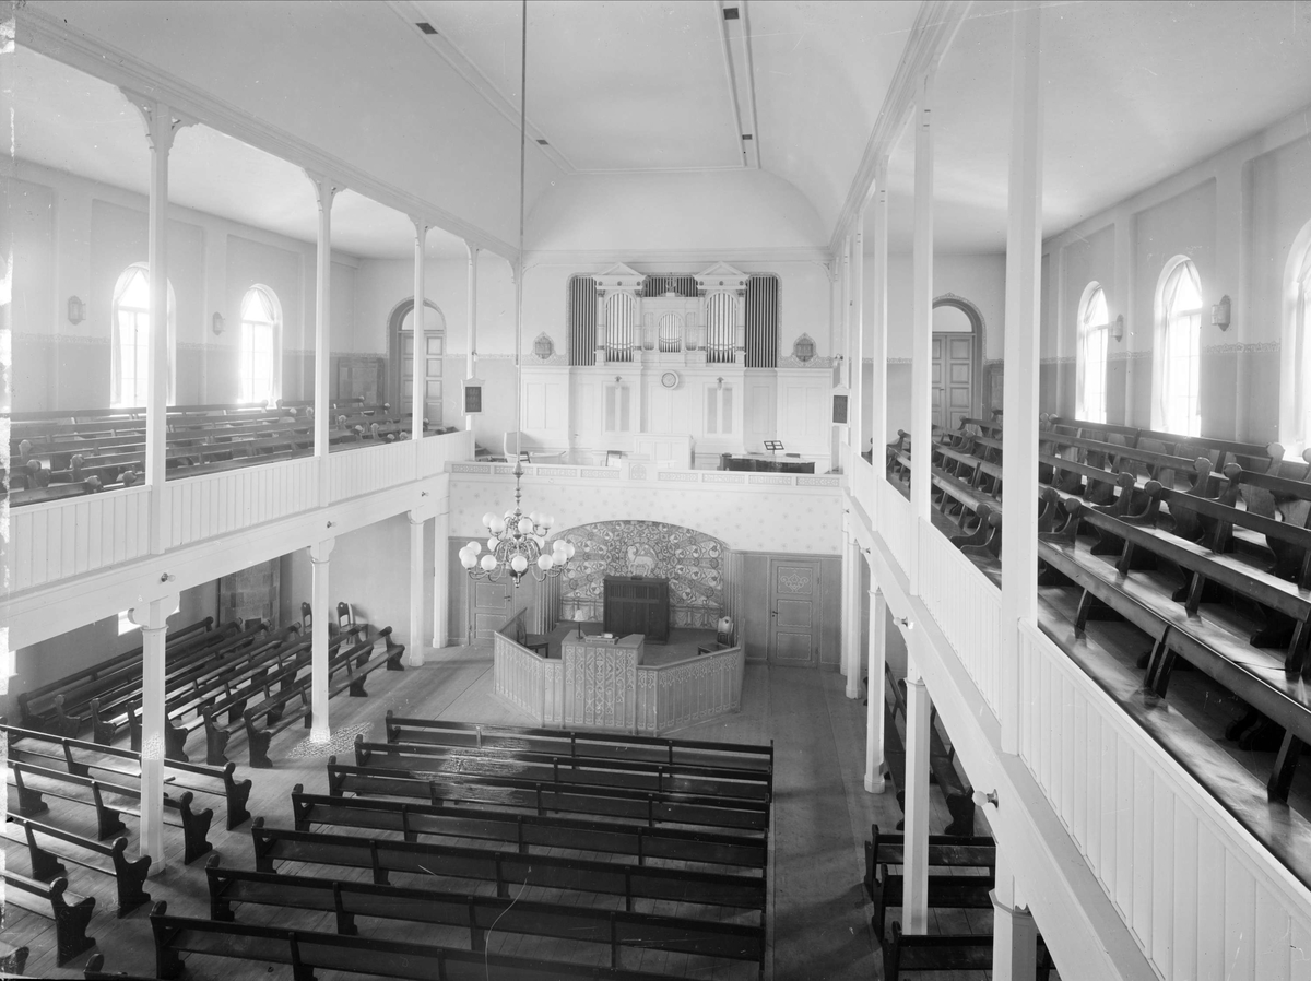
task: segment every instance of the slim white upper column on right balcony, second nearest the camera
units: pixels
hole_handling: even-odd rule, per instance
[[[915,97],[915,247],[914,247],[914,338],[910,384],[911,488],[910,510],[915,539],[910,550],[910,591],[919,595],[919,526],[932,522],[929,451],[933,375],[933,131],[929,125],[932,79],[919,80]]]

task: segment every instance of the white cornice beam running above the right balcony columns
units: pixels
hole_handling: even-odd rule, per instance
[[[838,212],[838,222],[829,240],[829,250],[834,256],[842,250],[842,240],[865,210],[874,191],[874,176],[897,146],[906,117],[915,105],[919,79],[937,67],[969,9],[969,0],[924,0],[920,4],[906,47],[902,49],[901,62],[893,73],[891,85],[888,87],[884,105],[878,110],[878,118],[874,119],[874,129],[865,143],[856,176],[851,181],[847,199]]]

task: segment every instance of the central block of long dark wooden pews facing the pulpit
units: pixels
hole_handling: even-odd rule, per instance
[[[208,918],[155,905],[157,977],[764,976],[772,746],[388,713],[325,775],[210,858]]]

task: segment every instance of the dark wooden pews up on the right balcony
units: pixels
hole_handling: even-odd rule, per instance
[[[889,479],[902,487],[915,449],[905,433],[888,447]],[[935,522],[999,580],[1000,422],[935,430],[928,451]],[[1158,738],[1206,744],[1169,748],[1236,813],[1255,813],[1259,797],[1287,801],[1311,741],[1311,451],[1286,459],[1278,445],[1047,417],[1038,464],[1042,630]],[[1146,652],[1117,661],[1089,640],[1091,620],[1133,624]],[[1172,706],[1181,668],[1245,707],[1224,727],[1227,741],[1274,750],[1270,763],[1247,757],[1269,767],[1264,793],[1236,753],[1200,734],[1205,723],[1189,731],[1159,711]],[[1269,841],[1282,821],[1248,824]],[[1278,828],[1262,833],[1262,824]]]

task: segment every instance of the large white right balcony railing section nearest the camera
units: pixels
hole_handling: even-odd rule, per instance
[[[1020,757],[1165,978],[1308,977],[1311,894],[1036,627]]]

